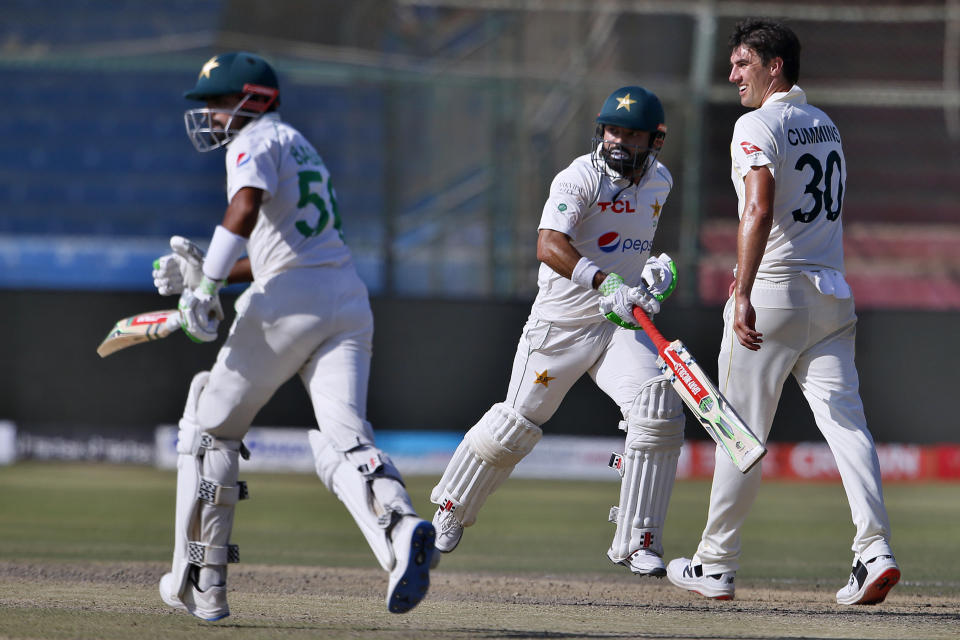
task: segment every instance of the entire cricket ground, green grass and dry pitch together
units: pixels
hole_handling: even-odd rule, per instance
[[[509,480],[433,574],[427,601],[391,616],[386,576],[343,506],[311,475],[248,474],[230,569],[234,615],[205,625],[156,593],[172,551],[172,472],[0,467],[0,637],[934,638],[960,625],[956,485],[889,485],[904,573],[881,607],[841,608],[853,534],[839,484],[766,483],[747,521],[737,600],[708,601],[613,566],[618,481]],[[435,478],[409,478],[429,517]],[[689,555],[709,484],[680,482],[667,557]]]

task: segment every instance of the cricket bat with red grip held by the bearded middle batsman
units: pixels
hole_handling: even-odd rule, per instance
[[[670,379],[670,384],[713,441],[723,448],[740,471],[746,473],[753,468],[767,449],[750,427],[737,415],[682,342],[667,342],[640,307],[634,307],[633,316],[660,354],[657,358],[660,371]]]

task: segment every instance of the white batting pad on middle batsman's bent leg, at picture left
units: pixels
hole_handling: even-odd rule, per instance
[[[509,477],[520,460],[533,450],[543,431],[516,410],[493,405],[463,438],[430,501],[454,511],[468,527],[487,497]]]

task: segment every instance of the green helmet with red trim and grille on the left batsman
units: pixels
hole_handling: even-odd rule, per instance
[[[183,94],[189,100],[200,101],[232,95],[240,96],[236,104],[189,109],[184,113],[187,136],[197,151],[229,144],[250,121],[276,109],[280,102],[277,74],[256,54],[224,53],[207,60],[196,86]]]

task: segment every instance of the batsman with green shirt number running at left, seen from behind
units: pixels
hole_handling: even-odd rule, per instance
[[[210,371],[197,374],[180,420],[173,566],[160,581],[172,607],[204,620],[229,615],[227,563],[243,437],[277,388],[299,374],[319,429],[309,433],[317,474],[356,520],[389,573],[387,608],[410,610],[429,587],[434,528],[419,518],[365,419],[373,316],[341,237],[330,173],[276,112],[277,77],[236,52],[203,65],[185,97],[199,151],[226,148],[227,206],[206,256],[179,236],[154,265],[163,295],[181,293],[183,330],[212,341],[226,282],[252,281]],[[241,257],[247,252],[248,257]]]

